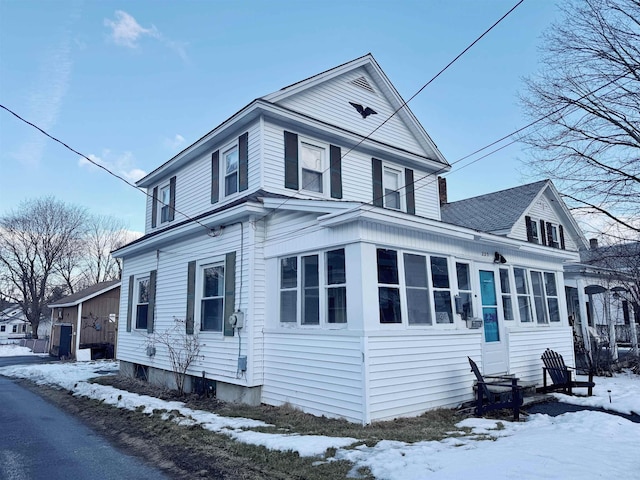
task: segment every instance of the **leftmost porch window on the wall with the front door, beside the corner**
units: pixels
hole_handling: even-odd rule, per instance
[[[398,252],[379,248],[377,257],[380,323],[402,323]]]

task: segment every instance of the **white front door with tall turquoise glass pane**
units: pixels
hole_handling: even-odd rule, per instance
[[[498,308],[497,271],[480,270],[480,300],[482,304],[482,373],[507,373],[508,351],[504,335],[502,312]]]

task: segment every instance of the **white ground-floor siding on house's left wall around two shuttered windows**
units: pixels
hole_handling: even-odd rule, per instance
[[[225,229],[224,235],[211,238],[202,232],[197,237],[188,238],[187,240],[176,241],[170,248],[160,249],[138,255],[133,258],[126,258],[124,261],[123,285],[120,297],[120,312],[127,312],[127,295],[128,295],[128,279],[129,275],[148,274],[149,271],[157,269],[156,277],[156,303],[154,332],[160,334],[166,330],[176,326],[175,319],[184,321],[186,316],[186,298],[187,298],[187,264],[189,261],[206,261],[211,258],[212,248],[216,253],[223,257],[227,252],[236,252],[236,308],[247,312],[249,306],[249,268],[250,250],[246,245],[253,244],[253,229],[249,224],[244,224],[245,233],[245,259],[241,260],[240,255],[240,226],[229,226]],[[242,274],[241,274],[242,266]],[[198,275],[198,272],[196,273]],[[244,294],[242,303],[240,304],[240,282],[243,282]],[[258,296],[260,297],[259,290]],[[201,296],[197,295],[196,300],[200,301]],[[196,313],[199,312],[196,308]],[[249,312],[247,312],[249,313]],[[228,383],[252,386],[254,382],[261,381],[261,370],[254,370],[253,362],[260,362],[261,358],[255,358],[254,352],[247,349],[248,345],[252,345],[258,351],[261,351],[261,345],[256,345],[257,340],[253,337],[253,330],[262,328],[263,311],[251,311],[251,315],[245,316],[245,327],[236,332],[233,337],[224,337],[220,332],[204,331],[200,332],[200,342],[202,348],[200,353],[202,359],[198,359],[189,369],[189,374],[200,377],[205,371],[207,378],[220,380]],[[132,319],[135,322],[135,317]],[[146,331],[126,331],[127,315],[120,315],[118,351],[117,356],[120,360],[149,365],[155,368],[171,370],[171,364],[167,352],[159,345],[156,345],[156,355],[149,357],[146,355],[146,345],[149,337]],[[200,317],[194,319],[196,332],[200,325]],[[135,326],[135,323],[133,323]],[[181,323],[181,329],[184,329],[184,323]],[[248,356],[247,378],[237,378],[237,362],[238,362],[238,335],[242,336],[241,354]],[[258,374],[259,373],[259,374]],[[256,376],[256,374],[258,374]]]

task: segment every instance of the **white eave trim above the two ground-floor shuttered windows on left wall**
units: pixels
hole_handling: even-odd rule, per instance
[[[228,210],[218,213],[212,213],[208,217],[200,218],[196,222],[188,222],[176,228],[167,228],[157,232],[152,237],[142,240],[139,243],[122,247],[115,253],[116,258],[127,258],[132,255],[138,255],[150,250],[155,250],[176,241],[183,241],[198,234],[202,234],[202,225],[214,229],[215,227],[224,227],[229,223],[241,220],[250,215],[264,214],[265,210],[262,205],[254,203],[243,203]]]

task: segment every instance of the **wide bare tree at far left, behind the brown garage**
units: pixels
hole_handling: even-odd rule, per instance
[[[37,338],[61,259],[84,233],[86,211],[53,197],[22,203],[0,218],[0,275]]]

